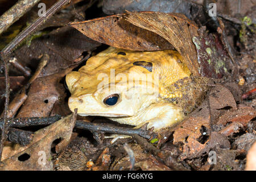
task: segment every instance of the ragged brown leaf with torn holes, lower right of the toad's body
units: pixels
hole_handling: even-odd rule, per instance
[[[174,129],[174,144],[183,143],[183,151],[180,159],[198,158],[211,148],[229,148],[230,143],[224,132],[212,131],[213,122],[221,114],[221,109],[230,106],[236,109],[236,101],[233,94],[224,85],[217,84],[208,93],[202,105],[193,111],[180,125]],[[223,110],[224,112],[227,110]]]

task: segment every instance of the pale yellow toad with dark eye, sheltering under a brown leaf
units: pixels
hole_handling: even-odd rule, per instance
[[[78,72],[68,73],[69,108],[79,115],[107,117],[154,131],[184,118],[170,86],[191,72],[177,51],[127,51],[109,47],[90,57]]]

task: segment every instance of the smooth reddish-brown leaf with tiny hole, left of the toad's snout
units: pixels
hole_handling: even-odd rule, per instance
[[[54,105],[65,99],[65,88],[63,84],[60,84],[60,80],[72,69],[68,68],[54,75],[36,78],[30,86],[27,100],[16,117],[48,117]],[[63,113],[57,114],[70,113],[69,109],[64,110],[65,107],[62,108]]]

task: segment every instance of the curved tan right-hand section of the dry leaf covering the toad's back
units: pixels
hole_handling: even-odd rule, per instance
[[[196,48],[192,42],[197,35],[195,23],[179,13],[135,12],[127,11],[127,20],[134,25],[155,32],[168,40],[183,56],[183,61],[194,76],[199,76]]]

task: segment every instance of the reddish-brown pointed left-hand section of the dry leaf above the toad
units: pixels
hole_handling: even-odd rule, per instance
[[[125,15],[105,16],[84,22],[72,22],[69,25],[89,38],[113,47],[133,51],[174,49],[161,36],[127,22]]]

